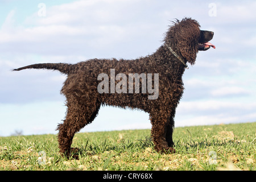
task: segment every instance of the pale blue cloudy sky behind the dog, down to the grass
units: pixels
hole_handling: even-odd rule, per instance
[[[256,1],[0,1],[0,136],[56,134],[65,117],[66,76],[14,68],[136,59],[162,45],[171,21],[191,17],[214,32],[216,49],[197,54],[183,75],[175,126],[256,121]],[[81,132],[150,129],[148,114],[101,107]]]

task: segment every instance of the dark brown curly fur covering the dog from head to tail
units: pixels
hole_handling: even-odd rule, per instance
[[[122,108],[141,109],[150,114],[152,124],[151,137],[155,150],[175,152],[172,146],[175,110],[183,94],[182,76],[185,71],[170,46],[185,63],[195,64],[199,51],[200,25],[196,20],[184,18],[177,20],[166,32],[164,44],[155,53],[135,60],[91,59],[77,64],[34,64],[23,68],[56,69],[68,75],[61,93],[67,98],[67,113],[63,123],[57,126],[60,152],[69,155],[72,139],[82,127],[91,123],[98,114],[101,105]],[[213,36],[213,34],[212,34]],[[212,37],[211,37],[212,38]],[[210,38],[210,39],[211,39]],[[110,69],[118,73],[159,73],[159,97],[148,100],[149,93],[98,93],[97,85],[100,73],[110,75]],[[117,81],[116,81],[117,82]]]

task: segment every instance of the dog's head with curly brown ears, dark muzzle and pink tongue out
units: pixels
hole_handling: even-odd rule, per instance
[[[190,64],[195,64],[198,51],[206,51],[215,46],[209,43],[212,31],[200,30],[200,24],[191,18],[177,20],[166,33],[164,42]]]

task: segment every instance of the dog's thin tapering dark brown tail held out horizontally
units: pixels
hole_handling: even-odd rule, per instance
[[[54,69],[57,71],[60,71],[61,73],[64,73],[66,75],[69,75],[72,71],[72,64],[66,64],[66,63],[42,63],[42,64],[32,64],[28,65],[26,67],[21,67],[18,69],[13,69],[13,71],[20,71],[22,69]]]

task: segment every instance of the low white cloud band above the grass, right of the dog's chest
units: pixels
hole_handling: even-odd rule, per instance
[[[181,101],[175,125],[216,125],[220,123],[255,122],[256,104],[243,101]]]

